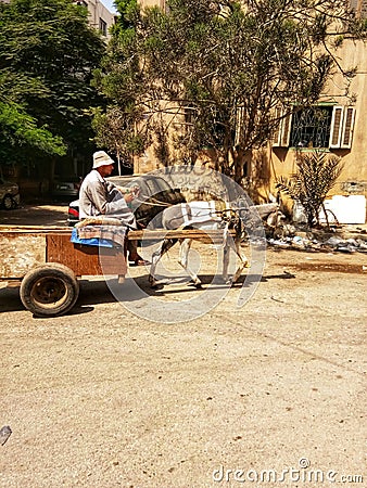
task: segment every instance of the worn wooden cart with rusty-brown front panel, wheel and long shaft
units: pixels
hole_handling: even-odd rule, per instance
[[[126,246],[100,247],[71,242],[72,229],[0,226],[0,281],[20,286],[21,300],[35,316],[61,316],[75,305],[83,275],[127,272]],[[223,233],[200,230],[130,231],[127,240],[164,237],[220,242]]]

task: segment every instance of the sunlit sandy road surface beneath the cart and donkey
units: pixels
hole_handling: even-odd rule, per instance
[[[268,248],[242,308],[238,285],[170,324],[100,279],[52,319],[1,288],[0,486],[367,486],[366,266],[363,253]],[[131,274],[147,286],[144,268]],[[156,296],[189,306],[198,293]]]

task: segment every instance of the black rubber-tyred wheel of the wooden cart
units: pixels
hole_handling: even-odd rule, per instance
[[[79,284],[73,271],[59,262],[31,269],[21,283],[21,300],[35,316],[66,313],[78,295]]]

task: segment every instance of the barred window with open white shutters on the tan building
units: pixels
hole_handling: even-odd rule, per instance
[[[273,145],[350,149],[354,119],[352,106],[318,105],[294,111],[280,120]]]

